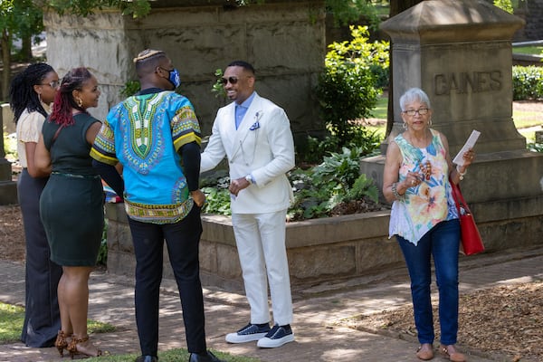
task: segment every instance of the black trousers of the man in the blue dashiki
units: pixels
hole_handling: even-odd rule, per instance
[[[157,356],[165,239],[183,308],[187,349],[191,353],[205,351],[204,297],[198,260],[200,208],[194,205],[186,218],[176,224],[141,223],[129,218],[129,225],[136,254],[135,303],[141,354]]]

